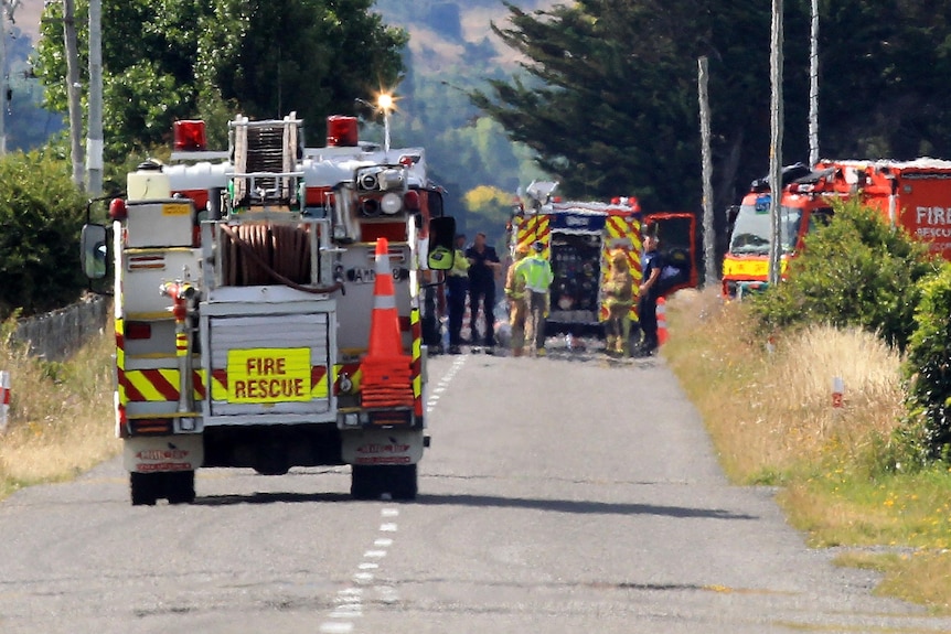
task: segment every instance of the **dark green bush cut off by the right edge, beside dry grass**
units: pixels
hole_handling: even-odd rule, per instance
[[[906,364],[908,406],[930,458],[951,459],[951,265],[921,284]],[[913,429],[913,427],[912,427]]]

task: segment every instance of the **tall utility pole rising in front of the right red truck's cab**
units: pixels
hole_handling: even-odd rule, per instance
[[[772,224],[769,246],[769,283],[782,277],[782,0],[772,0],[772,34],[769,78],[772,86],[769,118],[769,215]]]

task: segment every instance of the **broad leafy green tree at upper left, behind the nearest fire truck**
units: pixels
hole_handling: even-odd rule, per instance
[[[87,0],[78,0],[87,50]],[[104,0],[104,129],[108,159],[168,142],[175,119],[223,123],[241,111],[297,111],[311,122],[350,112],[356,97],[395,86],[405,32],[373,0]],[[66,108],[62,6],[50,3],[36,52],[46,103]],[[85,53],[84,53],[85,55]],[[88,66],[81,60],[81,67]],[[224,130],[210,127],[222,143]],[[215,138],[215,135],[217,137]]]

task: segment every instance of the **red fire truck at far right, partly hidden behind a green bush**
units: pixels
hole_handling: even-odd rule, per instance
[[[951,260],[951,161],[820,161],[783,169],[780,193],[781,273],[802,251],[806,235],[832,217],[832,201],[858,197],[896,227]],[[771,244],[766,179],[754,181],[735,207],[729,248],[723,265],[723,294],[742,295],[767,287]]]

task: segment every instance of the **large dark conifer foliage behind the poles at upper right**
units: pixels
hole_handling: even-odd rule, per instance
[[[784,162],[804,159],[810,2],[786,3]],[[522,72],[476,92],[570,197],[699,204],[697,57],[709,58],[716,208],[769,158],[770,6],[750,0],[579,0],[493,31]],[[951,0],[821,0],[822,154],[951,154]],[[723,227],[722,227],[723,228]]]

